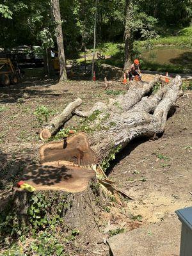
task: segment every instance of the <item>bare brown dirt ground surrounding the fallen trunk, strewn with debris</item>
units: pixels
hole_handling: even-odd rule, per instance
[[[153,75],[143,75],[150,81]],[[0,87],[0,193],[3,204],[26,164],[38,163],[38,139],[40,125],[34,115],[38,106],[47,106],[53,113],[60,113],[69,102],[81,97],[80,110],[92,108],[97,101],[108,102],[115,97],[104,91],[102,81],[67,81],[30,77],[26,81]],[[109,90],[126,91],[122,81],[114,82]],[[109,179],[134,198],[127,207],[111,207],[100,214],[103,236],[109,230],[132,230],[165,220],[175,210],[191,206],[191,98],[187,91],[178,101],[175,114],[168,119],[166,130],[159,140],[140,138],[132,141],[117,157],[109,170]],[[1,205],[0,205],[1,209]],[[100,243],[100,241],[99,241]],[[96,243],[97,244],[97,243]],[[108,249],[97,244],[97,252],[90,255],[106,255]],[[100,254],[99,254],[100,253]],[[87,254],[89,255],[89,254]]]

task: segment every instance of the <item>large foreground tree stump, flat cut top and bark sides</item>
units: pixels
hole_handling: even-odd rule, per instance
[[[38,172],[38,168],[41,172]],[[73,170],[63,175],[61,167],[56,168],[56,166],[33,166],[32,169],[29,166],[28,170],[29,172],[24,177],[29,178],[26,181],[27,183],[36,186],[36,191],[29,193],[28,191],[15,189],[12,195],[13,204],[10,210],[15,213],[19,223],[30,227],[28,209],[31,196],[36,194],[45,196],[47,204],[50,204],[49,200],[51,199],[52,202],[52,198],[54,198],[54,202],[47,209],[47,220],[55,218],[54,212],[58,204],[63,205],[60,212],[60,218],[63,221],[58,223],[57,230],[62,230],[63,234],[68,232],[68,235],[72,230],[79,230],[77,240],[81,239],[81,242],[85,240],[86,243],[93,243],[100,232],[97,223],[99,213],[109,205],[109,199],[97,183],[95,172],[87,169],[82,172],[80,168],[77,168],[76,176],[74,176],[74,173],[72,174]],[[49,173],[50,170],[51,173]],[[35,179],[33,179],[34,175],[36,175]],[[49,179],[47,179],[47,175],[49,175]],[[70,175],[72,177],[67,177]],[[30,182],[30,179],[33,182]],[[60,179],[61,182],[59,182]]]

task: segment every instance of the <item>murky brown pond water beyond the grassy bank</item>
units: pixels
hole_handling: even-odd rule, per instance
[[[192,50],[184,47],[155,47],[143,51],[141,59],[160,65],[185,65],[192,70]]]

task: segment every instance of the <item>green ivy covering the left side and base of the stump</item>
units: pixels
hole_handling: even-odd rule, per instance
[[[15,211],[13,198],[0,215],[1,244],[7,244],[6,255],[67,255],[64,244],[73,241],[79,235],[79,230],[71,230],[67,236],[58,236],[58,227],[65,226],[63,215],[72,206],[68,202],[67,193],[35,193],[30,194],[28,219],[22,220],[19,212]],[[28,225],[26,225],[27,223]],[[12,237],[12,239],[7,239]],[[31,242],[28,244],[28,238]],[[19,239],[22,246],[18,246]],[[13,243],[12,243],[13,242]],[[10,243],[12,246],[10,246]]]

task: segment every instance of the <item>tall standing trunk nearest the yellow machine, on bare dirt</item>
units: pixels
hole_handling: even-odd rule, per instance
[[[56,23],[56,38],[58,44],[58,57],[60,61],[60,81],[67,81],[65,52],[63,46],[63,32],[61,26],[60,0],[52,0],[52,14]]]

